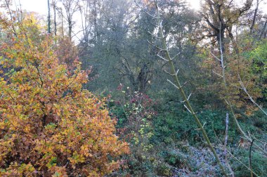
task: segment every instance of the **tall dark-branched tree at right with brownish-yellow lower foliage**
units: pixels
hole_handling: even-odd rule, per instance
[[[245,81],[247,89],[252,93],[253,98],[261,98],[259,86],[259,77],[253,74],[252,61],[245,57],[245,53],[254,46],[254,39],[249,39],[247,34],[253,34],[257,22],[259,3],[256,1],[256,9],[252,8],[252,1],[244,1],[244,4],[237,6],[236,1],[210,1],[205,0],[202,9],[202,18],[205,21],[202,35],[211,41],[211,45],[204,51],[204,60],[202,65],[209,69],[206,72],[212,86],[204,84],[202,88],[208,86],[215,92],[212,95],[219,96],[221,100],[230,95],[233,105],[237,109],[244,109],[248,114],[255,110],[250,104],[246,94],[240,89],[240,77]],[[253,13],[253,15],[250,15]],[[259,14],[258,14],[259,15]],[[242,27],[242,29],[241,29]],[[233,34],[233,28],[236,28],[239,34]],[[256,39],[256,38],[255,38]],[[216,60],[214,55],[219,55],[220,47],[223,51],[225,68],[221,68],[221,59]],[[221,70],[225,69],[225,77],[228,85],[226,90],[221,79]],[[214,99],[218,100],[218,99]],[[220,102],[221,103],[221,102]],[[214,104],[215,105],[215,104]],[[219,104],[216,104],[219,105]]]

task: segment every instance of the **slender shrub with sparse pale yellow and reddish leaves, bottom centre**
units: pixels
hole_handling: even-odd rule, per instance
[[[116,100],[112,100],[109,106],[119,123],[117,131],[122,139],[131,144],[131,155],[125,157],[129,166],[127,171],[133,176],[150,176],[158,165],[156,152],[153,153],[155,147],[151,143],[155,102],[144,93],[134,92],[131,95],[129,90],[123,90],[122,85],[113,95]]]

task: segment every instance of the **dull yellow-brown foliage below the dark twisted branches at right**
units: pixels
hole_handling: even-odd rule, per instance
[[[242,53],[245,53],[245,51],[249,52],[246,48],[239,48],[239,50]],[[260,77],[253,73],[252,60],[235,55],[235,53],[224,55],[224,64],[227,65],[225,69],[226,89],[221,77],[221,63],[210,54],[215,53],[219,55],[219,53],[216,51],[205,53],[209,54],[203,55],[205,60],[203,60],[202,68],[205,70],[211,84],[206,84],[201,89],[208,89],[214,96],[219,96],[221,103],[226,103],[225,100],[229,96],[237,109],[245,110],[247,115],[251,115],[257,110],[257,107],[253,105],[247,93],[243,91],[240,81],[245,84],[249,93],[256,99],[263,97],[262,91],[265,88],[265,86],[262,86],[262,88],[257,86],[257,83],[260,83]]]

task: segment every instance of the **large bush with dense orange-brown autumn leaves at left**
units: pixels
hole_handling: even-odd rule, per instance
[[[105,99],[82,89],[88,73],[79,61],[71,73],[60,65],[53,38],[32,23],[1,18],[0,176],[111,173],[128,145],[115,136]]]

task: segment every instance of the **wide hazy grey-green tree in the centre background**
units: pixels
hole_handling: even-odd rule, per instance
[[[156,62],[157,48],[148,44],[148,39],[152,40],[149,32],[156,30],[155,25],[150,15],[136,6],[143,2],[102,0],[80,3],[84,14],[80,58],[85,68],[93,66],[91,76],[98,76],[89,88],[112,91],[119,83],[124,83],[132,91],[145,93],[151,87],[149,83],[153,83],[155,89],[162,89],[161,83],[166,79],[159,77],[163,74],[160,70],[162,63]],[[184,2],[161,1],[161,4],[171,9],[164,13],[164,25],[168,32],[171,31],[172,49],[178,49],[180,61],[188,63],[188,56],[195,53],[188,40],[194,29],[195,14]],[[152,7],[146,8],[150,13],[155,11]]]

